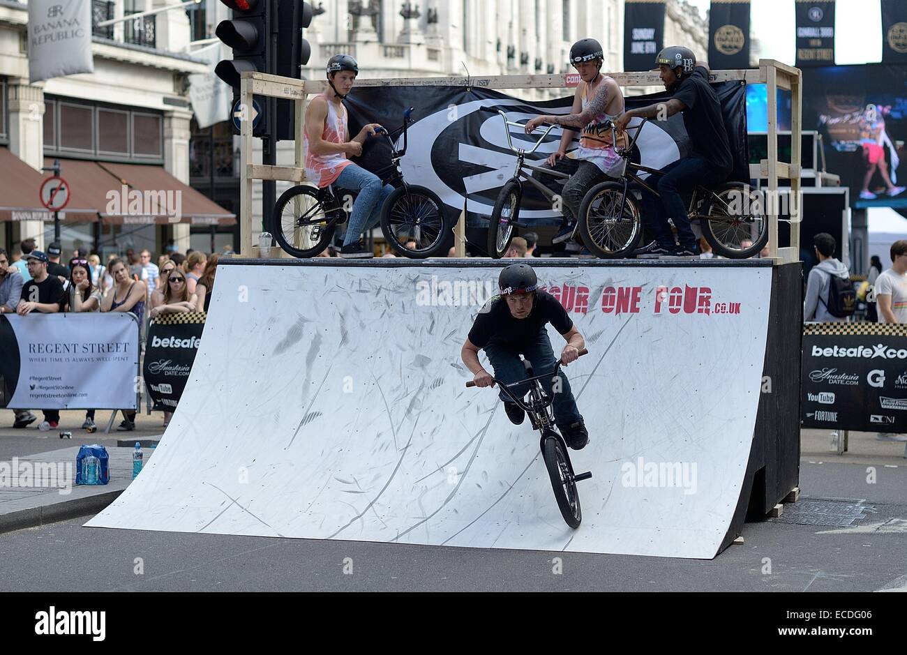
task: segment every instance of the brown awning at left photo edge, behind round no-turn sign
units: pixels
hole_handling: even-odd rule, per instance
[[[53,161],[50,161],[53,164]],[[45,164],[46,165],[46,164]],[[0,220],[53,221],[54,212],[41,204],[41,185],[49,173],[35,171],[31,166],[10,152],[0,148]],[[71,182],[68,178],[63,178]],[[60,211],[64,222],[98,220],[98,210],[78,191],[73,192],[69,204]]]

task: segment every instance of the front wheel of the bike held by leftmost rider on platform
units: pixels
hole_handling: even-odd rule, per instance
[[[402,186],[391,193],[381,209],[381,230],[401,257],[424,259],[441,254],[447,237],[444,203],[425,187]],[[414,240],[415,248],[406,248]]]

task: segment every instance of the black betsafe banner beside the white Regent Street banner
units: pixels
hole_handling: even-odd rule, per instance
[[[142,375],[153,409],[172,412],[199,350],[205,314],[162,314],[151,321]]]

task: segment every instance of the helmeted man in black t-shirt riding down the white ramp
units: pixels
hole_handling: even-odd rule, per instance
[[[554,371],[554,352],[545,326],[551,323],[561,333],[567,345],[561,352],[564,365],[580,356],[585,342],[580,331],[573,325],[567,312],[551,294],[537,291],[538,279],[528,264],[511,264],[501,271],[498,288],[501,291],[486,302],[479,310],[463,344],[463,363],[473,372],[475,386],[494,386],[492,377],[507,383],[526,377],[526,369],[520,356],[532,362],[534,375],[543,376]],[[479,362],[479,350],[494,367],[494,376]],[[560,389],[553,391],[554,422],[561,429],[561,435],[571,448],[579,450],[589,443],[589,434],[582,422],[570,382],[563,371],[559,371]],[[551,376],[542,377],[540,382],[545,393],[552,394]],[[512,387],[514,396],[525,396],[528,385]],[[510,398],[501,392],[504,410],[513,424],[520,425],[525,413]]]

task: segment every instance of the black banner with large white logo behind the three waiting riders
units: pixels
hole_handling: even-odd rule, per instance
[[[569,112],[572,97],[545,102],[527,102],[511,95],[483,89],[483,78],[473,78],[465,86],[372,86],[354,89],[344,103],[349,113],[350,133],[358,132],[368,122],[379,122],[390,130],[403,121],[403,112],[414,107],[409,127],[408,150],[401,161],[405,179],[421,184],[444,201],[451,220],[456,220],[468,196],[471,227],[488,227],[498,192],[513,174],[515,155],[507,147],[501,117],[479,111],[480,107],[499,108],[508,112],[512,121],[522,121],[540,113]],[[746,142],[746,86],[739,82],[713,84],[721,102],[728,140],[734,156],[733,179],[749,180]],[[565,93],[568,89],[564,90]],[[668,99],[666,93],[632,96],[627,109],[642,107]],[[633,153],[634,161],[661,168],[688,153],[689,138],[683,117],[678,113],[667,121],[652,121],[644,131],[649,137]],[[527,150],[537,136],[527,136],[511,128],[514,144]],[[540,165],[561,141],[560,130],[552,130],[539,150],[526,157],[528,163]],[[575,147],[571,146],[569,151]],[[570,154],[570,152],[569,152]],[[363,156],[356,159],[366,170],[377,172],[390,161],[386,140],[370,139]],[[523,185],[522,220],[534,226],[559,225],[561,214],[551,209],[551,202],[529,184]]]

